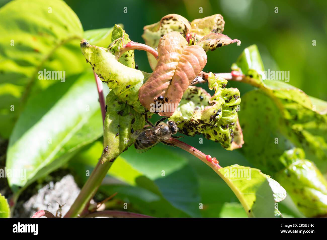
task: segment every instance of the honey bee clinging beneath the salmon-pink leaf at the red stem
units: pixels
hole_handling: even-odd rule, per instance
[[[164,142],[170,137],[179,138],[182,136],[172,136],[177,133],[178,127],[174,121],[168,121],[167,123],[163,122],[163,120],[167,118],[162,118],[159,120],[154,126],[147,119],[147,115],[145,115],[146,122],[151,126],[150,128],[138,129],[133,132],[132,138],[135,139],[134,146],[136,148],[136,152],[146,152],[159,142]]]

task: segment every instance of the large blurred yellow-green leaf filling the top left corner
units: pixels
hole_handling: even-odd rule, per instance
[[[0,136],[8,138],[28,96],[60,80],[38,80],[38,71],[84,70],[82,25],[60,0],[15,0],[0,9]],[[35,84],[37,83],[37,84]],[[14,105],[14,111],[11,111]]]

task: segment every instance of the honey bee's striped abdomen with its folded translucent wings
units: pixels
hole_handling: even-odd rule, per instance
[[[158,128],[160,128],[160,126],[134,131],[131,137],[136,140],[137,146],[140,147],[136,147],[136,152],[146,152],[163,140],[158,138],[158,136],[155,134],[155,131],[158,130]]]

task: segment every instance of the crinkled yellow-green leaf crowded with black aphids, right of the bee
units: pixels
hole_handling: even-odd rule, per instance
[[[215,94],[210,96],[203,88],[188,87],[170,120],[174,120],[185,135],[202,133],[227,150],[242,147],[243,135],[237,115],[241,102],[239,90],[226,88],[227,80],[211,72],[206,78]]]

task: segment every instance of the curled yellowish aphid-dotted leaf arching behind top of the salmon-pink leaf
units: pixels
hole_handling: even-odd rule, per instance
[[[146,45],[156,48],[158,47],[159,40],[167,33],[172,31],[181,32],[184,36],[189,33],[191,25],[188,20],[178,14],[168,14],[164,16],[158,23],[147,25],[143,28],[144,33],[142,38]],[[152,70],[157,65],[157,59],[147,53],[149,64]]]

